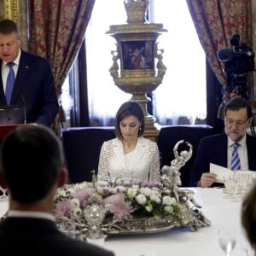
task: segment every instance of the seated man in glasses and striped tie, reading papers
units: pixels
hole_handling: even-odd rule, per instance
[[[214,173],[209,172],[210,163],[233,169],[231,159],[235,143],[238,143],[240,160],[236,170],[256,171],[256,137],[246,133],[252,119],[252,108],[247,100],[235,97],[227,102],[224,108],[225,132],[201,139],[191,170],[190,186],[214,186],[217,179]]]

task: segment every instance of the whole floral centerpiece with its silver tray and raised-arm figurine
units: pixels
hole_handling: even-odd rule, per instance
[[[186,143],[189,151],[178,152]],[[98,238],[103,233],[155,232],[185,224],[192,231],[210,225],[191,189],[181,189],[179,169],[192,155],[183,140],[173,148],[171,166],[161,169],[161,183],[127,180],[67,184],[55,196],[55,219],[62,230]]]

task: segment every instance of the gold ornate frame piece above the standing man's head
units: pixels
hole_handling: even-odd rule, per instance
[[[0,19],[10,19],[18,22],[19,0],[0,1]]]

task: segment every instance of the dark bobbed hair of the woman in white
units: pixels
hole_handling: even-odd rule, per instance
[[[119,139],[122,138],[119,123],[129,115],[134,115],[135,117],[137,117],[139,122],[142,124],[138,131],[137,136],[140,137],[144,133],[145,121],[144,121],[143,109],[141,108],[138,102],[129,101],[129,102],[123,103],[119,108],[118,112],[116,113],[114,128],[115,128],[115,136],[118,137]]]

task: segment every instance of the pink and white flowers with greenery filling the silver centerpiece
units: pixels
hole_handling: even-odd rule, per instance
[[[108,183],[67,184],[55,196],[55,218],[63,224],[66,219],[73,229],[88,231],[90,227],[85,220],[86,210],[97,204],[104,209],[101,224],[103,231],[141,230],[148,228],[147,222],[162,227],[166,221],[169,225],[183,225],[183,206],[177,203],[172,191],[162,183],[143,183],[115,181]],[[166,220],[167,219],[167,220]],[[137,222],[139,220],[139,222]],[[151,227],[152,228],[152,227]]]

